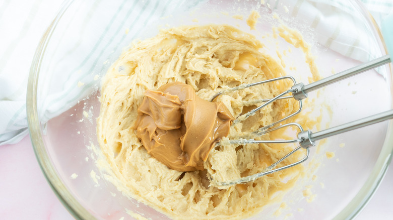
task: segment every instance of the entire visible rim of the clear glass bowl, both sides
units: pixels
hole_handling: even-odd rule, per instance
[[[380,48],[384,49],[381,51],[387,54],[386,46],[383,43],[383,36],[379,30],[378,25],[374,21],[370,13],[365,9],[363,4],[359,0],[352,0],[356,4],[355,7],[358,11],[366,18],[368,26],[373,31],[373,34],[380,45]],[[50,41],[52,33],[55,31],[57,24],[59,23],[63,14],[68,10],[74,0],[65,0],[60,6],[55,18],[52,20],[45,33],[41,37],[41,40],[35,51],[28,78],[27,95],[26,95],[26,113],[28,129],[30,133],[30,139],[34,149],[35,156],[38,164],[44,174],[49,186],[53,192],[63,204],[65,208],[76,218],[76,219],[95,219],[95,217],[83,207],[83,205],[72,195],[68,190],[67,186],[61,181],[59,175],[51,163],[50,157],[45,149],[43,141],[43,133],[41,130],[41,124],[38,116],[37,108],[37,88],[38,79],[40,73],[41,62],[45,54],[46,47]],[[390,73],[393,73],[392,64],[390,64]],[[391,83],[391,82],[390,82]],[[392,104],[393,106],[393,104]],[[393,121],[390,120],[387,126],[387,131],[393,131]],[[348,219],[356,217],[361,210],[367,205],[370,198],[378,189],[393,153],[393,133],[386,133],[384,144],[378,159],[372,169],[371,175],[367,178],[362,188],[352,198],[352,200],[334,217],[334,219]]]

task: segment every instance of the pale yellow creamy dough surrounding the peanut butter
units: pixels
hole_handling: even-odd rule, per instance
[[[294,186],[302,165],[226,188],[212,184],[208,175],[230,180],[260,172],[293,146],[223,145],[211,150],[203,170],[177,171],[149,155],[142,145],[137,136],[137,109],[146,90],[171,82],[186,83],[209,101],[222,89],[283,75],[282,65],[264,53],[261,42],[228,25],[161,30],[156,37],[133,44],[111,66],[101,89],[97,135],[111,178],[116,179],[113,182],[124,195],[174,219],[239,219],[260,212],[279,198],[277,193]],[[290,81],[268,83],[223,94],[216,100],[238,117],[260,104],[253,100],[274,97],[290,86]],[[297,108],[295,100],[277,101],[231,127],[228,138],[247,135]],[[305,121],[304,116],[297,117]],[[282,132],[272,132],[256,139],[284,137]],[[298,152],[284,164],[302,154]]]

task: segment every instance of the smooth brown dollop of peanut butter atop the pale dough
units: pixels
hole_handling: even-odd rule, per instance
[[[148,153],[171,169],[203,170],[210,150],[234,120],[221,102],[209,102],[190,85],[173,82],[147,90],[138,108],[137,135]]]

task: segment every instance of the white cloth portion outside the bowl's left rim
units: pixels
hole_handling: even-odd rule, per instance
[[[0,145],[27,133],[26,88],[38,42],[61,0],[0,0]]]

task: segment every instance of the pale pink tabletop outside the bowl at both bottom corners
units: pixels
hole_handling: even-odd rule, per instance
[[[391,219],[393,169],[356,219]],[[49,187],[27,136],[0,146],[0,219],[73,219]]]

